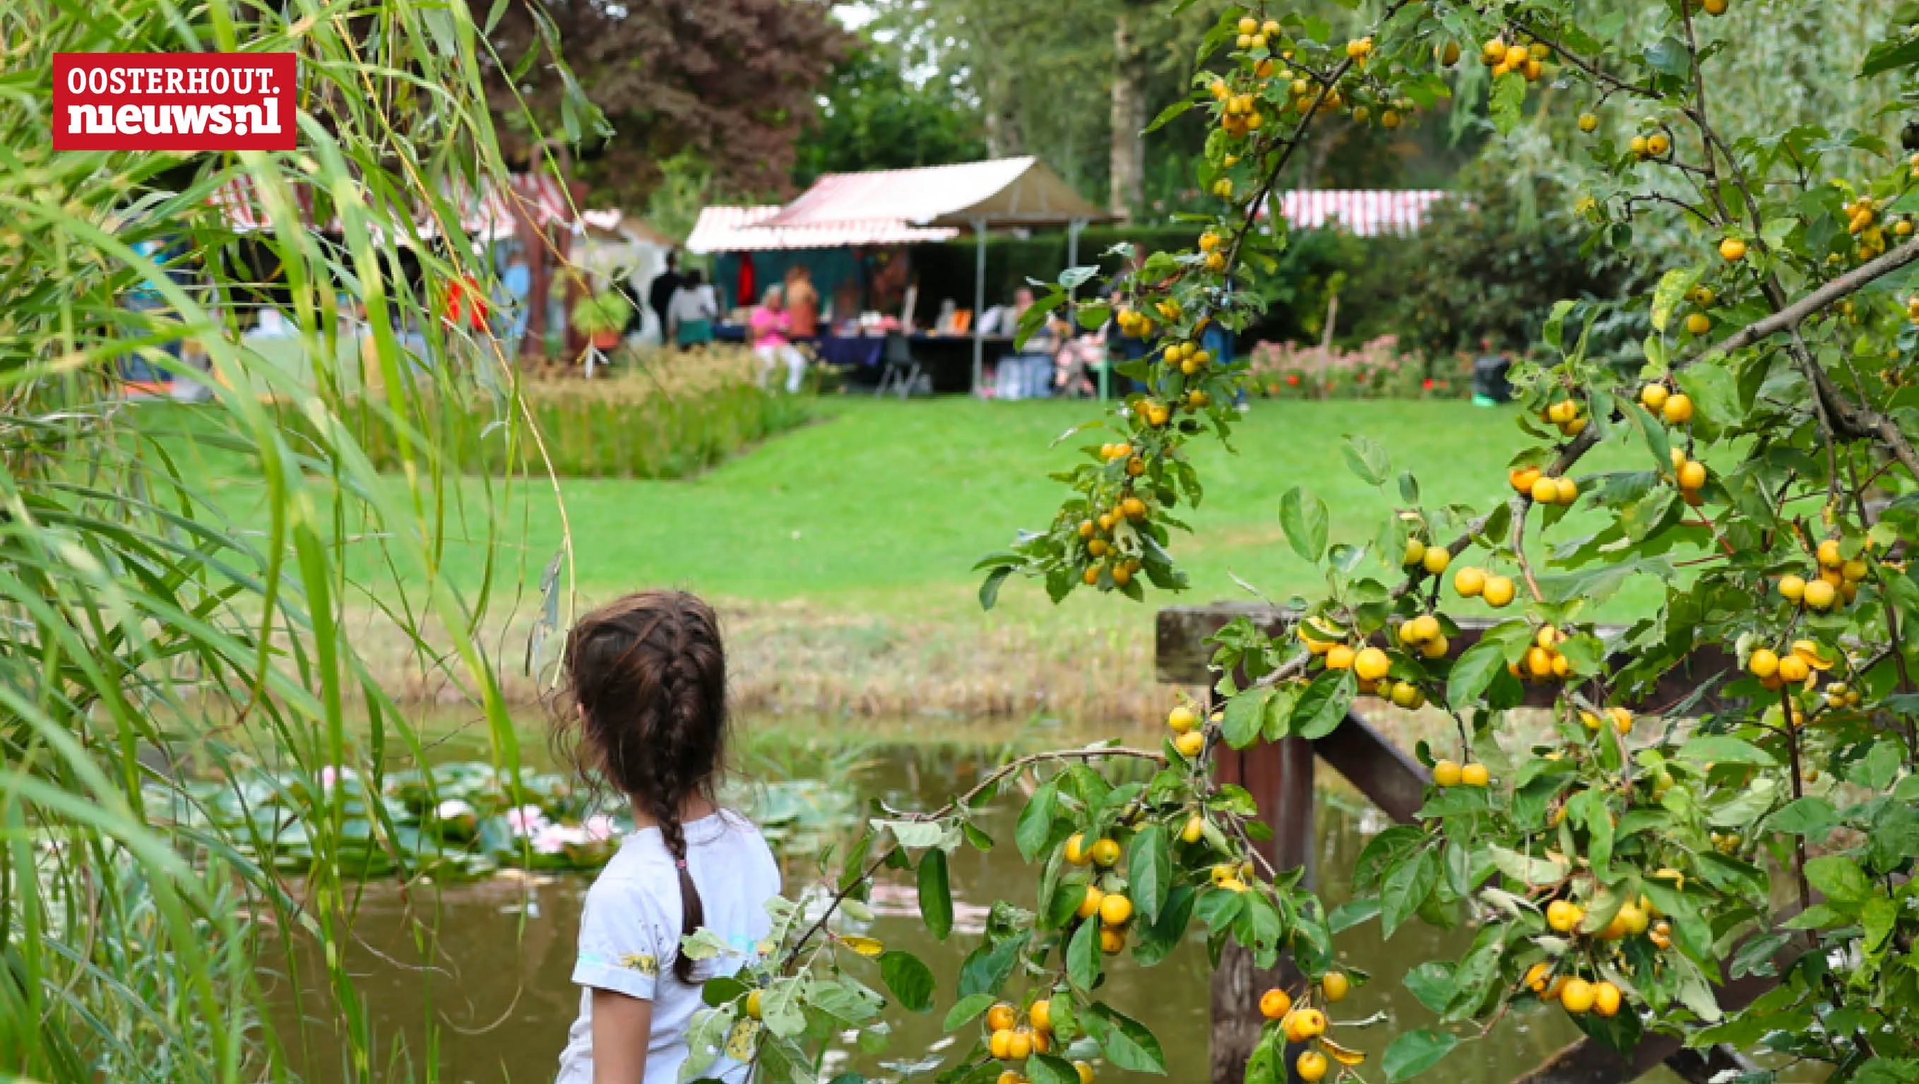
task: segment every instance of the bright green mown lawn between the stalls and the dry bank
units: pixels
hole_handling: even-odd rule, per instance
[[[589,597],[670,583],[741,601],[804,599],[894,614],[971,606],[973,562],[1007,545],[1017,528],[1044,526],[1063,493],[1048,472],[1069,464],[1077,445],[1103,437],[1052,441],[1098,416],[1092,403],[833,399],[817,424],[700,478],[564,482],[580,585]],[[1211,439],[1196,445],[1207,499],[1190,512],[1196,533],[1174,535],[1174,553],[1192,574],[1190,601],[1244,597],[1232,576],[1268,597],[1313,589],[1311,568],[1278,528],[1278,497],[1290,485],[1307,485],[1328,503],[1336,539],[1370,535],[1387,499],[1347,470],[1341,437],[1353,432],[1378,439],[1395,468],[1416,470],[1428,507],[1485,508],[1504,497],[1506,459],[1524,441],[1510,409],[1255,403],[1234,434],[1238,455]],[[1604,468],[1627,455],[1612,449],[1589,462]],[[532,497],[530,574],[560,539],[547,493]],[[1622,602],[1643,604],[1654,591],[1639,585]],[[1007,597],[1017,595],[1040,591],[1009,585]]]

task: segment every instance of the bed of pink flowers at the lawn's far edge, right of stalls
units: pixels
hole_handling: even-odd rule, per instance
[[[1462,399],[1472,393],[1472,359],[1447,355],[1428,365],[1401,353],[1397,336],[1349,351],[1263,342],[1253,347],[1249,382],[1270,399]]]

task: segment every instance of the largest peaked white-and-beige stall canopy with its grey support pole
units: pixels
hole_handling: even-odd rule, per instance
[[[979,317],[986,307],[986,230],[1000,226],[1065,226],[1067,261],[1078,263],[1078,232],[1113,215],[1100,209],[1036,157],[1002,157],[963,165],[829,173],[760,228],[831,226],[888,219],[910,226],[973,226],[979,251],[973,269],[973,391],[981,391],[984,342]]]

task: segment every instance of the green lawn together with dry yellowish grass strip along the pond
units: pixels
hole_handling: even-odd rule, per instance
[[[1278,495],[1290,485],[1326,499],[1334,537],[1364,537],[1387,507],[1386,495],[1345,468],[1343,434],[1364,432],[1395,464],[1418,470],[1428,507],[1485,508],[1503,493],[1506,459],[1522,443],[1510,411],[1464,403],[1263,401],[1234,434],[1240,455],[1201,445],[1207,499],[1190,516],[1196,533],[1174,537],[1192,591],[1153,597],[1148,606],[1092,593],[1052,606],[1036,585],[1015,583],[988,614],[975,601],[971,564],[1017,528],[1046,522],[1061,493],[1048,472],[1073,455],[1071,445],[1052,441],[1098,411],[1086,403],[825,399],[816,412],[817,424],[697,478],[560,482],[580,602],[637,585],[718,599],[746,712],[1153,718],[1165,700],[1151,683],[1155,604],[1244,599],[1234,577],[1270,599],[1313,591],[1311,570],[1278,526]],[[1608,468],[1627,457],[1593,459]],[[537,689],[520,656],[537,610],[537,574],[560,545],[560,518],[537,483],[522,487],[507,520],[493,528],[514,539],[516,568],[507,577],[520,579],[520,595],[495,595],[489,643],[509,660],[509,695],[530,704]],[[1587,520],[1570,516],[1545,541],[1589,530]],[[447,574],[478,579],[478,554],[480,547],[451,547]],[[1658,589],[1629,583],[1606,612],[1637,612]],[[1455,610],[1483,612],[1478,602]],[[382,635],[378,622],[363,635]],[[391,675],[390,685],[416,700],[459,698],[418,675]]]

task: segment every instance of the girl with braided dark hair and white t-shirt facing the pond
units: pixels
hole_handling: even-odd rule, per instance
[[[558,1084],[672,1084],[700,984],[756,952],[779,894],[760,831],[716,800],[727,737],[720,622],[683,591],[641,591],[580,618],[562,666],[555,739],[589,783],[626,796],[635,831],[580,915],[580,1019]],[[700,927],[733,952],[687,957],[681,938]],[[708,1076],[745,1080],[746,1067],[722,1057]]]

